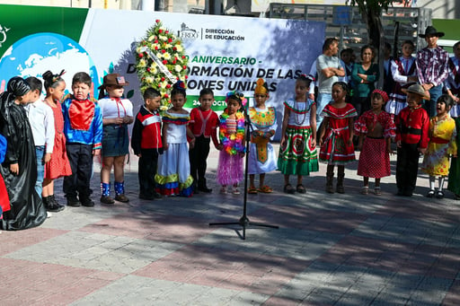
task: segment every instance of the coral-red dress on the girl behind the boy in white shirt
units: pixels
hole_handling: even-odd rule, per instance
[[[57,102],[56,106],[50,105],[48,101],[45,103],[53,109],[55,126],[53,153],[51,153],[51,160],[45,164],[45,179],[57,179],[72,174],[66,152],[66,136],[63,133],[64,118],[60,102]]]

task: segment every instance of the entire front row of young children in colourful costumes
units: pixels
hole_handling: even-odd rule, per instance
[[[284,102],[277,157],[270,144],[277,129],[277,112],[265,104],[270,92],[262,79],[256,83],[252,107],[245,109],[243,93],[228,92],[226,109],[220,117],[211,109],[214,94],[210,89],[200,92],[199,107],[189,113],[183,109],[185,85],[177,82],[171,93],[171,108],[160,113],[161,94],[148,88],[143,93],[145,104],[134,118],[132,103],[123,98],[123,88],[128,85],[123,76],[104,76],[96,102],[90,99],[92,79],[86,73],[74,75],[73,93],[63,99],[66,83],[62,74],[64,71],[60,74],[47,71],[42,75],[46,90],[44,101],[40,101],[41,82],[34,77],[12,78],[7,91],[0,95],[0,130],[7,144],[0,168],[6,189],[0,184],[0,196],[6,195],[11,204],[3,206],[1,224],[4,229],[36,226],[46,218],[44,209],[63,210],[65,206],[57,203],[54,197],[53,182],[60,177],[64,177],[67,205],[93,206],[90,186],[93,156],[100,153],[102,204],[113,205],[115,200],[128,202],[123,169],[128,154],[128,125],[132,122],[131,147],[139,157],[139,197],[142,199],[190,197],[194,192],[212,192],[205,178],[211,139],[220,151],[217,167],[220,193],[239,194],[246,136],[250,138],[249,194],[272,192],[273,189],[265,184],[265,173],[277,169],[284,175],[284,192],[305,193],[303,177],[318,171],[318,162],[327,164],[326,192],[334,192],[334,168],[337,166],[335,192],[344,193],[344,167],[355,161],[355,135],[360,151],[358,175],[364,178],[362,194],[368,193],[369,178],[375,178],[374,193],[381,195],[380,179],[391,174],[392,139],[397,145],[398,195],[412,195],[420,153],[424,155],[421,170],[429,174],[427,197],[444,197],[445,179],[449,175],[456,178],[460,172],[460,162],[456,158],[460,119],[456,122],[448,114],[454,101],[448,95],[441,96],[437,116],[429,119],[421,108],[421,102],[428,97],[418,84],[402,89],[407,95],[408,107],[394,119],[384,110],[389,101],[387,94],[375,90],[371,94],[371,109],[355,121],[358,114],[347,102],[347,83],[333,83],[332,101],[323,109],[323,124],[316,131],[316,105],[308,99],[314,79],[299,75],[295,96]],[[250,125],[246,127],[247,122]],[[115,198],[111,197],[112,168]],[[257,174],[258,188],[255,186]],[[291,175],[297,178],[295,188],[289,182]],[[26,179],[35,177],[34,184]],[[436,177],[438,189],[435,189]],[[449,179],[448,188],[460,198],[460,186],[457,185],[456,179]]]

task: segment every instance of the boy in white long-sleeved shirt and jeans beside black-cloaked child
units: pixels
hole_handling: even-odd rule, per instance
[[[43,176],[45,174],[45,163],[51,159],[54,146],[54,115],[53,109],[40,100],[42,90],[41,81],[33,76],[25,79],[31,86],[31,102],[27,105],[27,117],[31,123],[35,154],[37,155],[37,182],[35,190],[41,197]],[[45,203],[48,208],[48,205]],[[59,208],[64,209],[64,206]]]

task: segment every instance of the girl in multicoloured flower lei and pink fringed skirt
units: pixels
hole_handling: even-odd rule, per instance
[[[223,145],[219,153],[217,183],[222,185],[221,194],[227,185],[232,185],[232,193],[239,195],[238,183],[243,180],[244,114],[241,111],[246,99],[241,92],[226,94],[226,109],[219,119],[219,138]]]

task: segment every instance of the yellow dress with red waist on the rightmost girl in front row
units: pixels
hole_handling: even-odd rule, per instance
[[[449,154],[456,154],[456,121],[450,118],[429,120],[429,145],[421,170],[430,176],[447,176],[449,174]]]

